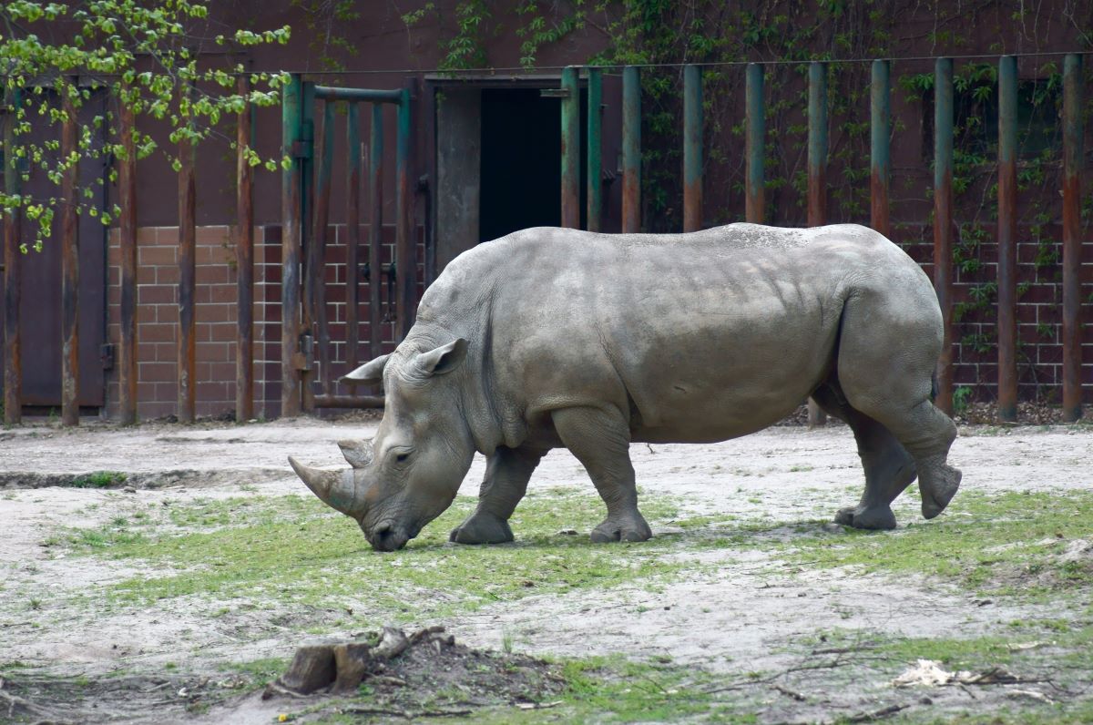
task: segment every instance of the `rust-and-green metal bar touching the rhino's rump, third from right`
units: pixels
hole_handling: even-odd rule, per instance
[[[933,289],[941,306],[943,342],[933,401],[953,412],[953,61],[938,58],[933,70]]]

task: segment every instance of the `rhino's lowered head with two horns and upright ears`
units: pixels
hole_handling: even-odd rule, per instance
[[[376,437],[339,442],[352,466],[342,471],[303,466],[289,457],[315,495],[356,519],[377,551],[395,551],[451,504],[474,456],[459,405],[459,375],[467,340],[425,352],[376,358],[345,376],[383,381],[385,410]]]

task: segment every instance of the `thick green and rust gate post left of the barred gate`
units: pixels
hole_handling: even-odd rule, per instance
[[[293,73],[281,95],[281,153],[289,157],[281,172],[281,416],[299,414],[299,253],[303,176],[295,155],[301,141],[301,96],[303,83]]]

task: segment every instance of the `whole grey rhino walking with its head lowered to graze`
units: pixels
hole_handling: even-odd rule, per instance
[[[448,507],[475,451],[485,480],[451,540],[510,541],[531,472],[564,446],[607,504],[592,540],[639,541],[631,443],[745,435],[812,396],[854,430],[866,473],[835,519],[892,528],[916,475],[927,518],[960,484],[956,428],[930,401],[941,342],[930,280],[862,226],[530,229],[460,255],[398,349],[349,375],[387,395],[372,444],[342,444],[353,468],[290,461],[391,551]]]

